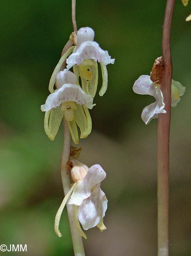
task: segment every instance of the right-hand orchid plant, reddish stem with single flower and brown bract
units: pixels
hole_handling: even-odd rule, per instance
[[[188,0],[182,0],[184,6]],[[171,108],[180,101],[185,87],[172,80],[171,24],[175,0],[167,0],[163,24],[162,55],[153,65],[150,76],[140,76],[133,91],[154,96],[156,102],[146,106],[141,114],[148,124],[158,118],[157,131],[157,198],[158,198],[158,256],[169,256],[169,142]],[[191,20],[191,15],[186,21]]]

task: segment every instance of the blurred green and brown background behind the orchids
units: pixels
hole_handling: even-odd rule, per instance
[[[134,81],[150,74],[161,56],[165,0],[79,0],[78,28],[90,26],[108,50],[108,90],[96,96],[93,131],[80,140],[80,161],[102,165],[108,197],[104,223],[86,232],[87,256],[157,254],[157,120],[146,126],[142,109],[154,102],[136,95]],[[172,109],[170,144],[170,255],[191,255],[191,3],[176,1],[172,22],[173,79],[186,87]],[[72,32],[69,0],[3,1],[0,8],[0,244],[27,244],[27,252],[0,255],[71,256],[64,211],[61,238],[54,217],[63,199],[59,174],[62,128],[54,141],[44,132],[41,104],[63,46]],[[99,87],[102,79],[100,77]]]

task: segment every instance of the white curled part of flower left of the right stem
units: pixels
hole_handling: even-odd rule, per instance
[[[135,81],[133,91],[141,95],[151,95],[156,98],[156,102],[146,106],[141,114],[141,118],[145,124],[148,124],[151,119],[157,118],[159,113],[167,113],[164,109],[163,93],[158,84],[150,80],[150,76],[142,75]]]

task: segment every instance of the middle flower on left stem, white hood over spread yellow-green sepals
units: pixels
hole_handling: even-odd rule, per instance
[[[41,106],[45,113],[45,132],[54,140],[63,117],[67,120],[70,134],[74,143],[78,144],[78,129],[80,138],[85,138],[91,132],[91,117],[88,111],[92,109],[93,98],[87,95],[79,85],[76,85],[76,76],[70,71],[60,71],[56,78],[57,89],[46,99]],[[77,124],[77,125],[76,125]]]

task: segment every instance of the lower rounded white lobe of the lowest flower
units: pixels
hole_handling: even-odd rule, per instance
[[[107,206],[108,200],[106,195],[100,187],[97,187],[92,191],[90,197],[83,200],[79,206],[77,218],[82,224],[83,229],[87,230],[98,225],[105,216]]]

